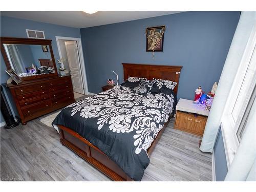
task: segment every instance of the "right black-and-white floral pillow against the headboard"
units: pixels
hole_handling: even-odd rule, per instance
[[[152,86],[150,92],[154,93],[165,93],[165,94],[172,94],[177,82],[163,80],[163,79],[153,79],[155,83]]]

